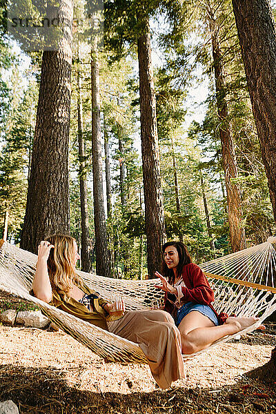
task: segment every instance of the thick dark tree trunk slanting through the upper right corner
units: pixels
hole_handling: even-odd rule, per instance
[[[248,91],[276,220],[276,30],[270,1],[233,0]]]

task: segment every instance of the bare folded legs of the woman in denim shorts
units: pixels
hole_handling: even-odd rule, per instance
[[[255,317],[228,317],[226,323],[215,326],[210,319],[198,311],[186,315],[178,328],[181,333],[182,353],[192,354],[207,348],[210,344],[226,335],[233,335],[253,325]],[[261,325],[259,328],[264,328]]]

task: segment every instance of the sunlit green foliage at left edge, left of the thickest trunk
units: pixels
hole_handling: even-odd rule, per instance
[[[6,46],[8,48],[8,43]],[[26,90],[22,88],[19,59],[10,50],[6,50],[7,57],[3,59],[6,63],[0,72],[7,86],[6,97],[1,96],[0,232],[3,235],[4,221],[8,217],[8,238],[17,242],[26,208],[38,89],[34,81],[29,82]]]

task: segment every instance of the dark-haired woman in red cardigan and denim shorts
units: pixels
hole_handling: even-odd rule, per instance
[[[155,275],[165,292],[164,310],[175,319],[181,333],[182,353],[192,354],[207,348],[226,335],[233,335],[254,324],[255,317],[228,317],[217,314],[211,302],[214,293],[188,249],[181,242],[168,242],[162,247],[163,273]],[[259,326],[264,329],[264,325]]]

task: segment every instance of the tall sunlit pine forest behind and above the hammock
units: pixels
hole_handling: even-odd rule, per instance
[[[166,241],[200,264],[275,235],[273,3],[60,3],[66,41],[36,50],[1,1],[0,238],[70,234],[82,270],[146,279]]]

